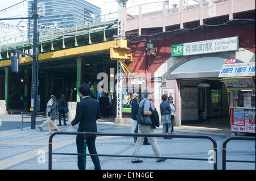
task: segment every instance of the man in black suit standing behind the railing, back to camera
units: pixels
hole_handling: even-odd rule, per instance
[[[97,100],[89,97],[90,87],[84,83],[79,87],[79,94],[82,100],[77,103],[75,119],[69,125],[79,124],[77,132],[97,132],[96,120],[101,118],[100,107]],[[76,146],[77,153],[84,153],[84,135],[77,135]],[[86,136],[86,143],[90,154],[97,154],[95,147],[96,136]],[[78,155],[77,166],[79,170],[84,170],[83,155]],[[100,170],[100,159],[98,156],[90,156],[92,158],[94,169]]]

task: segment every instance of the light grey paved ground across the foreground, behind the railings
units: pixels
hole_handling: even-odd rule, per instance
[[[5,115],[9,122],[19,119],[15,115]],[[1,116],[5,123],[5,116]],[[16,120],[16,121],[15,121]],[[111,120],[99,120],[98,132],[104,133],[130,133],[131,125],[117,125]],[[2,125],[5,126],[4,124]],[[60,127],[64,132],[69,127]],[[48,141],[46,136],[48,127],[44,132],[30,127],[9,129],[1,131],[0,127],[0,169],[6,170],[47,170],[48,169]],[[156,134],[162,133],[161,127],[155,129]],[[175,128],[175,134],[209,135],[217,142],[218,169],[222,169],[222,143],[231,136],[227,127],[210,128],[182,126]],[[76,136],[57,135],[53,137],[53,153],[76,153]],[[211,158],[213,149],[212,142],[204,139],[173,138],[164,140],[157,138],[163,157],[177,158]],[[255,161],[254,141],[230,141],[227,146],[227,159],[242,159]],[[98,154],[132,155],[134,141],[132,137],[98,136],[96,140]],[[143,145],[141,155],[154,156],[150,145]],[[212,170],[213,164],[208,161],[188,161],[180,159],[167,159],[156,163],[154,158],[141,158],[143,163],[131,163],[131,158],[123,157],[100,157],[101,167],[104,170]],[[76,155],[53,155],[53,170],[77,170]],[[255,170],[255,163],[227,163],[230,170]],[[87,157],[86,169],[93,170],[94,166]],[[127,175],[126,175],[127,176]]]

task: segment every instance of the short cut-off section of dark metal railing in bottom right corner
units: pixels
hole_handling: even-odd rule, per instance
[[[255,141],[255,137],[235,136],[235,137],[226,138],[226,140],[223,142],[223,145],[222,145],[222,170],[226,170],[226,162],[255,163],[255,161],[227,160],[226,159],[226,145],[231,140],[254,140]]]

